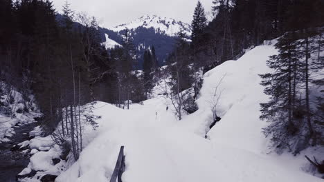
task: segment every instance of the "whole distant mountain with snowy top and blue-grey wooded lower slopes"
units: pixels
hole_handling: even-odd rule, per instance
[[[165,59],[167,59],[168,54],[174,48],[177,32],[183,28],[187,39],[190,39],[191,34],[191,28],[188,23],[156,15],[144,15],[141,18],[114,28],[99,28],[102,43],[106,45],[106,48],[114,48],[115,45],[122,44],[126,28],[129,29],[129,33],[133,38],[136,56],[140,63],[139,68],[141,68],[143,63],[143,53],[145,50],[154,46],[159,64],[164,65]]]

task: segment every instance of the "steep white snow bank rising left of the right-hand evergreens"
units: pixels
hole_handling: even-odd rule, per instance
[[[208,110],[210,98],[219,83],[217,95],[217,115],[222,118],[208,132],[209,138],[216,143],[224,143],[234,148],[261,152],[267,140],[262,128],[267,123],[260,121],[260,103],[269,98],[263,93],[258,74],[270,72],[266,65],[269,56],[277,54],[273,45],[261,45],[250,50],[237,61],[226,61],[204,75],[204,86],[197,104]],[[229,132],[231,131],[231,132]]]

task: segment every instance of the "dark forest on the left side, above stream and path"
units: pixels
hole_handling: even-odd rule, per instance
[[[73,12],[67,1],[57,14],[48,0],[1,0],[0,23],[1,81],[23,94],[33,90],[44,128],[51,134],[60,126],[54,137],[71,146],[75,159],[83,123],[96,127],[98,117],[89,114],[91,105],[81,105],[106,101],[129,108],[129,100],[145,99],[129,32],[123,47],[107,51],[96,18]]]

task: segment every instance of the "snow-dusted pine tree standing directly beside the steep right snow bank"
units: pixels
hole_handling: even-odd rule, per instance
[[[271,56],[267,61],[273,73],[260,75],[262,85],[266,88],[264,93],[271,96],[268,103],[261,103],[262,115],[260,119],[269,121],[271,124],[264,128],[264,134],[271,136],[271,141],[278,149],[291,148],[296,143],[299,123],[294,119],[297,110],[297,84],[300,83],[300,52],[294,34],[287,33],[276,44],[278,55]]]

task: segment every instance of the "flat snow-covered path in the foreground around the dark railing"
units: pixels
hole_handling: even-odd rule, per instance
[[[161,99],[132,110],[108,106],[120,120],[102,123],[103,132],[84,149],[78,163],[58,181],[107,181],[120,145],[125,145],[123,181],[322,181],[278,165],[271,156],[216,144],[170,124],[174,116]],[[102,103],[105,104],[105,103]],[[100,107],[99,107],[100,108]],[[107,107],[101,107],[102,114]],[[155,119],[155,112],[163,117]],[[149,114],[150,113],[150,114]],[[111,116],[115,117],[115,116]],[[105,132],[103,131],[105,130]],[[75,172],[73,172],[73,170]],[[80,170],[80,178],[77,171]]]

